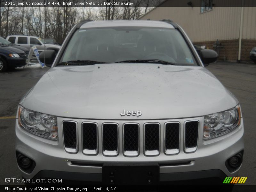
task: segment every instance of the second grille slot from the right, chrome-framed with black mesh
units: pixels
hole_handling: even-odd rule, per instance
[[[164,153],[177,154],[180,151],[180,123],[168,122],[164,125]]]

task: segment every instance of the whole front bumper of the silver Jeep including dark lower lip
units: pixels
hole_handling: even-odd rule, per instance
[[[181,150],[177,155],[165,155],[163,153],[163,144],[161,144],[161,152],[159,156],[145,156],[143,153],[140,153],[137,157],[125,157],[121,152],[115,157],[103,156],[101,149],[99,149],[99,154],[97,156],[84,155],[81,150],[76,154],[69,154],[63,147],[61,128],[58,129],[59,140],[52,141],[38,137],[20,128],[18,120],[16,119],[16,150],[36,162],[36,166],[31,173],[26,173],[21,170],[22,176],[27,179],[50,177],[101,182],[103,164],[117,162],[126,164],[158,163],[160,169],[160,182],[203,178],[219,178],[219,180],[223,181],[226,176],[236,176],[239,169],[235,172],[229,172],[225,162],[228,158],[244,149],[243,118],[241,119],[240,126],[234,131],[206,141],[203,140],[203,117],[178,119],[178,121],[183,124],[185,121],[195,119],[199,120],[200,125],[198,147],[194,153],[185,153],[183,151],[183,143],[181,142]],[[58,125],[61,125],[63,120],[63,118],[58,118]],[[65,120],[71,119],[65,118]],[[86,120],[76,119],[76,121],[79,125],[78,148],[81,149],[81,124]],[[155,121],[156,120],[154,120],[154,122]],[[166,121],[167,120],[158,120],[161,127]],[[99,126],[103,122],[108,121],[98,120]],[[113,122],[113,120],[111,122]],[[126,122],[127,121],[118,121],[119,124]],[[150,121],[141,120],[140,123],[144,124],[145,122]],[[182,127],[180,131],[181,135],[183,135]],[[121,135],[122,134],[120,134],[120,140],[122,139]],[[161,138],[163,138],[163,131],[161,131]],[[183,140],[183,138],[181,138],[181,140]],[[101,146],[100,140],[99,146]],[[140,151],[143,151],[143,146],[140,146]],[[121,145],[120,151],[122,151]]]

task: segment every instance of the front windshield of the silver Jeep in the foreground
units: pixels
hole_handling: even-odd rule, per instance
[[[179,31],[153,27],[79,29],[70,39],[60,63],[77,60],[105,63],[162,60],[197,66]]]

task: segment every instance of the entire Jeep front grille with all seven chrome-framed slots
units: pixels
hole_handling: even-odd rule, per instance
[[[140,156],[140,151],[145,156],[158,156],[160,152],[177,155],[182,148],[185,153],[196,151],[199,119],[139,120],[132,123],[63,119],[62,133],[64,148],[68,153],[77,153],[78,146],[81,146],[80,152],[84,155],[118,156],[120,150],[126,157]]]

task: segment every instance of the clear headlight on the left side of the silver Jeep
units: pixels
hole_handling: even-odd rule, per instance
[[[57,117],[19,107],[19,125],[39,136],[58,140]]]

